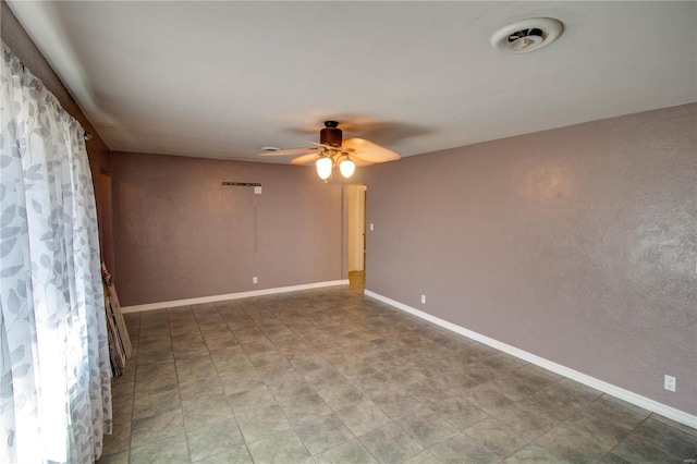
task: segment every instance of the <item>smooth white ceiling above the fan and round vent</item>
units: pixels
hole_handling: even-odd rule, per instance
[[[258,160],[335,119],[411,156],[697,101],[694,1],[8,3],[112,150]],[[554,44],[490,47],[538,16]]]

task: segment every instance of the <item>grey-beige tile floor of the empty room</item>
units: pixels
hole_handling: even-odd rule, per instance
[[[99,463],[694,463],[697,430],[360,282],[125,315]]]

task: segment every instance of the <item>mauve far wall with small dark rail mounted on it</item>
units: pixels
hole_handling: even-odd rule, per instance
[[[124,306],[342,279],[342,187],[313,168],[114,152],[111,182]]]

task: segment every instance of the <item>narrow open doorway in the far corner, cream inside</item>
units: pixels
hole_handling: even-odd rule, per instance
[[[346,185],[346,235],[348,281],[365,286],[366,271],[366,185]]]

